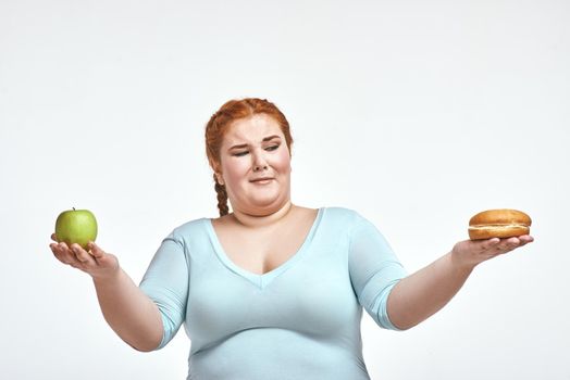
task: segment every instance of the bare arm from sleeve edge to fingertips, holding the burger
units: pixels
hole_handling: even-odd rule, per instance
[[[406,330],[425,320],[461,289],[479,264],[532,242],[531,236],[488,240],[466,240],[451,252],[401,279],[387,300],[389,320]]]

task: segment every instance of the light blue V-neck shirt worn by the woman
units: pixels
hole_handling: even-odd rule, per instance
[[[184,324],[193,380],[364,380],[362,307],[383,328],[405,269],[357,212],[319,208],[301,248],[257,275],[224,253],[211,219],[164,239],[140,288],[159,306],[163,347]]]

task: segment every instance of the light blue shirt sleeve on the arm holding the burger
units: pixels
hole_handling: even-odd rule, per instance
[[[350,233],[348,268],[358,302],[382,328],[399,330],[387,314],[387,300],[406,270],[376,227],[360,218]]]

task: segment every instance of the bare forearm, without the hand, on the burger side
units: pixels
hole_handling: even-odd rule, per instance
[[[401,279],[387,300],[391,321],[399,329],[409,329],[425,320],[454,297],[473,267],[459,265],[448,253]]]

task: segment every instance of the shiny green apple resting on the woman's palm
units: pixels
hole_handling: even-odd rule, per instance
[[[55,239],[67,245],[77,243],[87,249],[89,241],[97,238],[97,220],[89,210],[67,210],[55,220]]]

